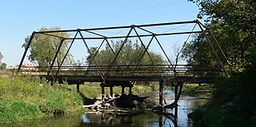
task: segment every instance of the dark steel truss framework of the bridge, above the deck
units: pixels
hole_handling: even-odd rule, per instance
[[[178,25],[188,25],[192,24],[194,27],[190,30],[182,30],[178,32],[171,31],[171,26],[178,26]],[[167,26],[170,27],[169,30],[166,30],[164,33],[157,33],[154,31],[154,27],[160,27],[160,26]],[[198,30],[194,30],[194,28],[198,26]],[[178,26],[181,27],[181,26]],[[176,27],[177,28],[177,27]],[[126,32],[121,33],[124,29],[126,29]],[[110,33],[110,31],[120,31],[118,32],[118,35],[115,34],[106,34],[107,32]],[[105,32],[105,33],[104,33]],[[74,34],[74,37],[64,37],[61,36],[59,33],[68,33],[68,34]],[[38,31],[33,32],[30,36],[30,41],[28,42],[28,45],[26,46],[26,50],[22,56],[22,60],[20,62],[20,65],[18,66],[18,71],[22,68],[22,63],[24,59],[26,58],[27,51],[30,48],[31,43],[36,39],[38,34],[44,34],[46,36],[49,36],[50,38],[59,38],[59,46],[54,54],[54,58],[50,65],[45,66],[47,70],[47,75],[53,77],[57,77],[60,73],[67,73],[71,71],[79,71],[84,72],[82,75],[88,75],[88,72],[94,72],[94,76],[100,76],[102,82],[106,82],[107,77],[110,76],[118,76],[118,75],[127,75],[127,76],[137,76],[137,75],[158,75],[158,76],[166,76],[166,75],[172,75],[172,76],[178,76],[179,73],[186,73],[189,71],[196,71],[193,70],[194,66],[196,65],[177,65],[175,62],[171,62],[170,57],[166,54],[166,50],[164,50],[164,47],[162,46],[162,43],[159,41],[159,37],[162,36],[174,36],[179,34],[188,34],[188,38],[190,38],[191,34],[204,34],[206,37],[206,40],[210,46],[210,50],[212,51],[212,54],[216,57],[216,59],[219,62],[218,69],[213,67],[204,67],[200,68],[198,67],[197,71],[208,71],[208,72],[225,72],[226,69],[224,68],[224,65],[222,61],[220,60],[217,50],[222,52],[223,57],[226,58],[225,54],[223,53],[221,47],[218,45],[217,40],[214,38],[214,35],[211,33],[211,31],[204,25],[202,25],[201,22],[198,20],[194,21],[188,21],[188,22],[167,22],[167,23],[157,23],[157,24],[147,24],[147,25],[131,25],[131,26],[114,26],[114,27],[103,27],[103,28],[91,28],[91,29],[77,29],[77,30],[55,30],[55,31]],[[139,55],[139,61],[136,64],[130,65],[129,63],[124,64],[120,62],[118,59],[120,57],[120,53],[122,52],[123,46],[126,45],[126,42],[129,41],[130,38],[137,38],[137,41],[140,43],[140,45],[143,48],[143,52]],[[150,38],[145,42],[143,38]],[[214,44],[210,41],[210,38],[214,38]],[[111,47],[110,41],[112,39],[122,39],[121,46],[119,46],[119,49],[114,49],[114,47]],[[85,49],[87,53],[92,56],[91,61],[87,63],[86,66],[65,66],[63,65],[67,54],[70,52],[70,49],[72,48],[75,40],[82,40],[82,43],[85,45]],[[90,46],[88,45],[90,41],[97,40],[100,43],[100,45],[97,47],[96,53],[93,53],[90,49]],[[187,41],[188,39],[186,39]],[[70,46],[68,50],[66,51],[65,56],[62,58],[62,62],[60,64],[56,64],[56,59],[58,57],[58,54],[63,46],[63,44],[68,41],[70,42]],[[156,62],[154,62],[154,59],[152,58],[150,52],[150,45],[155,42],[157,46],[159,46],[159,49],[162,51],[162,55],[166,59],[166,63],[164,65],[158,65]],[[112,52],[112,60],[109,62],[109,65],[100,65],[97,60],[95,59],[95,56],[98,54],[99,50],[102,49],[102,46],[106,44],[110,47],[110,50]],[[217,49],[216,49],[217,47]],[[145,56],[148,56],[150,64],[149,65],[142,65],[142,58]],[[227,61],[226,61],[227,62]],[[57,65],[57,66],[56,66]],[[73,69],[72,69],[73,68]],[[75,69],[74,69],[75,68]],[[111,72],[115,73],[111,73]],[[148,73],[150,72],[150,73]],[[122,73],[122,74],[120,74]],[[141,74],[139,74],[141,73]],[[70,73],[69,73],[70,74]],[[90,73],[90,76],[92,73]]]

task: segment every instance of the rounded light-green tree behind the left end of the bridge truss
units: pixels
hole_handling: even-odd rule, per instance
[[[47,29],[45,27],[42,27],[38,31],[48,31],[48,30],[61,30],[60,27],[52,27],[50,29]],[[70,35],[66,33],[53,33],[52,35],[56,35],[58,37],[68,38]],[[25,38],[25,43],[22,45],[23,48],[26,49],[26,46],[30,40],[30,36]],[[46,34],[35,34],[34,39],[32,40],[29,51],[29,60],[30,62],[37,62],[39,65],[46,65],[49,66],[51,62],[53,61],[54,54],[58,50],[58,46],[60,45],[60,42],[62,41],[62,38],[52,37]],[[68,50],[68,44],[69,41],[64,41],[62,44],[62,48],[59,51],[58,57],[54,63],[54,65],[60,65],[62,62],[62,59],[64,58],[67,50]],[[65,62],[63,65],[70,65],[73,62],[72,55],[67,54]]]

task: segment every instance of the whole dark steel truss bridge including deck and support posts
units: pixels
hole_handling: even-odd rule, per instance
[[[190,30],[174,31],[182,26],[192,25]],[[154,28],[165,26],[167,30],[163,33],[154,31]],[[195,30],[195,28],[198,30]],[[126,30],[126,31],[125,31]],[[115,34],[113,34],[115,31]],[[117,32],[118,31],[118,32]],[[112,33],[111,33],[112,32]],[[73,35],[73,37],[63,37],[60,33],[67,33]],[[111,33],[111,34],[106,34]],[[166,54],[165,48],[170,49],[170,47],[162,46],[160,37],[170,37],[174,35],[187,34],[188,38],[185,43],[189,40],[191,34],[202,34],[205,36],[206,42],[208,42],[209,49],[212,55],[216,58],[218,65],[178,65],[178,56],[176,57],[176,62],[171,62],[170,58]],[[55,50],[54,58],[49,66],[38,66],[41,73],[40,77],[45,77],[46,80],[62,83],[62,81],[67,81],[70,85],[77,85],[79,90],[79,85],[84,84],[84,82],[101,82],[102,94],[105,93],[104,88],[110,88],[110,94],[113,94],[113,87],[117,85],[122,86],[122,94],[126,87],[131,88],[134,86],[135,82],[159,82],[159,105],[162,104],[162,91],[163,85],[174,86],[175,88],[175,101],[177,108],[178,95],[181,93],[182,85],[184,83],[212,83],[214,82],[215,73],[226,73],[226,69],[222,62],[226,61],[226,56],[222,52],[221,47],[218,45],[218,41],[214,38],[211,31],[198,20],[189,22],[167,22],[158,24],[147,24],[147,25],[132,25],[132,26],[114,26],[114,27],[104,27],[104,28],[92,28],[92,29],[78,29],[78,30],[56,30],[56,31],[39,31],[33,32],[30,37],[30,41],[26,46],[26,50],[22,56],[22,60],[18,67],[18,72],[22,68],[22,63],[26,57],[26,53],[30,48],[31,43],[36,40],[38,35],[44,35],[49,38],[59,38],[59,46]],[[134,65],[129,63],[122,63],[119,58],[122,58],[121,52],[123,47],[126,45],[129,39],[136,38],[142,47],[142,52],[139,54],[138,62]],[[145,39],[147,38],[147,39]],[[110,39],[123,39],[120,43],[121,45],[118,49],[113,50],[110,45]],[[91,56],[90,62],[86,66],[65,66],[67,54],[69,54],[70,49],[74,42],[80,41],[85,45],[87,53]],[[90,42],[98,41],[101,42],[97,47],[97,51],[93,53],[90,50]],[[65,56],[62,58],[61,62],[57,64],[58,54],[64,43],[70,42],[68,50]],[[159,50],[162,52],[166,63],[158,65],[154,62],[152,54],[150,54],[150,46],[155,43]],[[95,56],[98,54],[102,47],[109,47],[113,58],[107,65],[100,65]],[[156,48],[156,47],[154,47]],[[218,53],[218,52],[220,53]],[[142,64],[142,58],[145,56],[149,59],[149,64]],[[57,66],[56,66],[57,65]],[[208,76],[206,76],[208,75]]]

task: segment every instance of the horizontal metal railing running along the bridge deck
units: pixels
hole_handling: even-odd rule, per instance
[[[49,71],[47,66],[38,66],[40,75],[46,75]],[[198,73],[223,73],[220,67],[202,65],[90,65],[90,66],[53,66],[51,75],[84,75],[95,76],[100,73],[104,76],[117,75],[173,75],[174,71],[180,75]]]

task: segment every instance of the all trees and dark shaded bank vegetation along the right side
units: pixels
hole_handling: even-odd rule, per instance
[[[256,126],[256,1],[190,1],[197,2],[198,18],[206,17],[206,26],[213,30],[233,69],[230,77],[218,79],[210,103],[190,117],[207,126]],[[186,50],[189,62],[214,63],[206,46],[201,34],[195,36]]]

